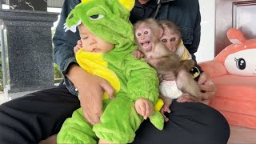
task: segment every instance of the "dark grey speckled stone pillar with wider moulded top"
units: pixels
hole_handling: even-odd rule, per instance
[[[28,10],[0,10],[6,26],[9,93],[54,87],[51,26],[58,14]]]

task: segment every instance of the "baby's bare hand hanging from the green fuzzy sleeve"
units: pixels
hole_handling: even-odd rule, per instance
[[[150,100],[146,98],[138,98],[135,102],[135,109],[138,114],[141,114],[144,119],[154,113],[154,106]]]

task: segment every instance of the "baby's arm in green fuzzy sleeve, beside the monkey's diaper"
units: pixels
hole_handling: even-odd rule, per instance
[[[134,101],[138,98],[149,99],[153,104],[158,100],[158,76],[156,71],[144,60],[128,55],[122,66],[126,73],[128,96]]]

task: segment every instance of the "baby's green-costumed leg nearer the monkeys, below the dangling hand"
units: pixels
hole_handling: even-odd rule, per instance
[[[142,117],[137,114],[134,102],[122,96],[114,98],[106,106],[101,122],[93,127],[98,138],[106,142],[130,143],[134,141]]]

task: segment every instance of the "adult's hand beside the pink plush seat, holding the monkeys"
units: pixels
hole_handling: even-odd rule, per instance
[[[198,79],[199,89],[203,91],[202,100],[213,98],[217,92],[214,82],[210,79],[209,74],[203,72]]]

